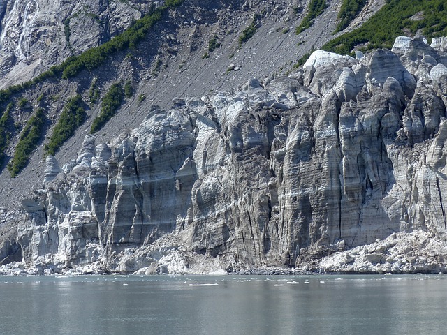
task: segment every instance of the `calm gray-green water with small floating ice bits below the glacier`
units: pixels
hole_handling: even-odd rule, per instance
[[[0,277],[0,334],[447,334],[447,276]]]

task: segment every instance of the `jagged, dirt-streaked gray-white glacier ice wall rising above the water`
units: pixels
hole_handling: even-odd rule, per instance
[[[198,259],[214,271],[339,271],[338,260],[318,267],[316,258],[416,230],[444,243],[446,64],[443,52],[410,42],[358,60],[316,54],[302,81],[252,79],[153,107],[108,144],[87,136],[64,173],[22,203],[24,260],[52,253],[121,272],[207,271]],[[427,50],[430,61],[411,66]],[[395,250],[362,262],[385,264],[404,253]],[[433,262],[426,271],[445,269]]]

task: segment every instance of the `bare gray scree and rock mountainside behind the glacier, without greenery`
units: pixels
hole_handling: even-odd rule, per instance
[[[1,67],[6,73],[0,83],[3,87],[41,74],[72,52],[78,55],[91,46],[110,40],[113,34],[132,24],[133,18],[147,13],[152,6],[160,6],[162,2],[78,0],[71,1],[68,6],[64,1],[55,1],[51,5],[36,1],[37,6],[32,8],[41,9],[35,20],[24,20],[21,11],[13,11],[14,6],[24,8],[34,1],[2,2],[4,15],[1,27],[6,27],[8,22],[11,26],[12,22],[16,22],[17,27],[17,34],[2,28],[5,38],[1,59],[12,59]],[[6,164],[2,165],[0,207],[13,215],[24,193],[29,188],[42,186],[41,175],[45,168],[43,147],[52,135],[67,101],[75,94],[81,94],[86,103],[87,121],[58,152],[57,158],[61,163],[66,163],[76,154],[91,121],[101,111],[101,99],[115,82],[131,82],[134,93],[126,98],[116,116],[105,125],[101,132],[104,140],[111,140],[123,128],[138,126],[152,105],[168,108],[177,97],[203,96],[213,90],[235,89],[247,78],[274,77],[291,70],[302,54],[331,38],[330,31],[335,29],[340,1],[331,1],[330,7],[315,20],[313,27],[295,35],[294,27],[305,16],[306,6],[307,1],[286,0],[186,1],[183,6],[163,14],[161,22],[149,31],[147,38],[135,49],[117,52],[106,64],[94,70],[85,70],[70,80],[53,78],[15,94],[12,99],[15,101],[13,121],[10,123],[16,127],[10,134],[6,162],[13,157],[20,131],[37,107],[45,110],[45,138],[30,157],[29,165],[16,178],[11,179]],[[58,14],[51,15],[53,12]],[[261,20],[256,23],[256,34],[240,45],[240,35],[254,15],[261,13]],[[50,17],[55,17],[55,23],[45,23]],[[66,25],[68,18],[70,20]],[[113,25],[110,22],[121,23]],[[28,27],[25,30],[21,28],[24,25]],[[110,28],[103,29],[112,25],[116,27],[112,32]],[[66,26],[69,27],[69,34]],[[54,33],[51,43],[43,47],[47,45],[44,43],[45,36],[53,30],[57,34]],[[22,48],[27,58],[21,59],[17,53],[17,43],[20,38],[30,40],[29,35],[25,34],[27,31],[37,39],[35,43],[27,44],[28,49]],[[216,38],[219,47],[210,52],[210,40],[213,38]],[[208,57],[205,57],[206,54]],[[11,80],[8,80],[9,77]],[[96,103],[91,103],[91,88],[94,86],[99,97]],[[20,107],[21,99],[29,104]],[[4,111],[6,105],[2,108]]]

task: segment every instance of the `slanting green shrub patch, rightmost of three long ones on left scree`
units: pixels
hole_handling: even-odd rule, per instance
[[[101,103],[101,112],[91,123],[91,134],[94,134],[103,128],[103,126],[115,115],[115,112],[122,104],[123,98],[124,92],[121,84],[112,84]]]

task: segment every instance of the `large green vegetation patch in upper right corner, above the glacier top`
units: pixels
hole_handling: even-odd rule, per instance
[[[418,19],[411,19],[416,13]],[[397,36],[404,30],[421,29],[427,38],[447,36],[447,3],[445,0],[389,0],[362,27],[343,34],[323,45],[323,50],[350,54],[355,47],[366,51],[378,47],[393,47]]]

